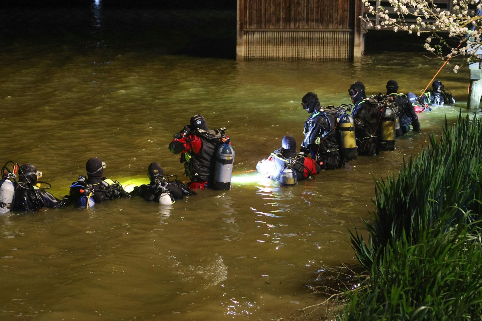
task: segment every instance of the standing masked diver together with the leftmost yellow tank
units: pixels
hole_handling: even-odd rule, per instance
[[[305,121],[300,154],[310,153],[321,169],[341,168],[346,161],[356,159],[355,128],[342,106],[322,107],[311,92],[303,96],[301,105],[310,115]]]

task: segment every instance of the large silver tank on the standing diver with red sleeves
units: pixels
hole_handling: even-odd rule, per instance
[[[225,141],[216,150],[216,164],[214,167],[214,189],[227,190],[231,188],[235,152],[233,147]]]

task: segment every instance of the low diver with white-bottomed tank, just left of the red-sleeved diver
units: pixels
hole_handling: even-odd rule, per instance
[[[179,180],[169,181],[169,177],[164,178],[164,171],[161,165],[156,162],[150,163],[147,168],[147,177],[150,183],[134,187],[131,195],[140,196],[146,201],[158,203],[174,203],[174,200],[182,200],[184,196],[196,195],[189,187]]]

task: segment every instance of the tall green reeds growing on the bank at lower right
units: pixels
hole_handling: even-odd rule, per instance
[[[351,234],[367,271],[338,303],[338,320],[482,318],[482,127],[459,116],[439,139],[376,181],[368,241]]]

